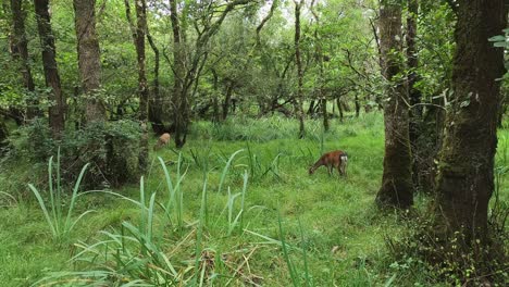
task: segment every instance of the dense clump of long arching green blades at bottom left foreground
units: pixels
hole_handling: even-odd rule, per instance
[[[73,265],[84,271],[50,273],[35,283],[73,284],[86,282],[88,286],[173,286],[185,284],[183,274],[154,239],[156,194],[147,207],[144,177],[139,185],[138,226],[123,222],[120,230],[101,230],[103,239],[94,244],[78,242],[82,250],[71,259]]]

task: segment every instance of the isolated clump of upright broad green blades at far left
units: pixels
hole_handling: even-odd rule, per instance
[[[51,236],[54,240],[59,242],[69,241],[71,237],[71,232],[76,226],[76,224],[85,215],[92,210],[85,211],[80,213],[77,219],[73,220],[73,210],[76,204],[76,199],[78,197],[79,185],[82,184],[83,176],[88,167],[88,164],[82,169],[79,176],[74,185],[71,202],[69,203],[67,210],[65,211],[65,204],[63,203],[64,190],[62,188],[61,177],[60,177],[60,149],[57,155],[57,166],[53,169],[53,157],[48,161],[48,194],[49,202],[45,202],[42,198],[42,192],[40,192],[34,185],[28,184],[32,192],[37,198],[40,210],[44,213],[46,223],[51,232]],[[53,170],[57,171],[57,183],[53,184]]]

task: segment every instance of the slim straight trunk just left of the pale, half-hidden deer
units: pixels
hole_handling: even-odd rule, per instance
[[[138,58],[138,120],[141,124],[141,142],[139,152],[139,166],[142,171],[148,167],[148,97],[149,90],[146,76],[145,33],[147,30],[146,0],[136,0],[136,54]]]

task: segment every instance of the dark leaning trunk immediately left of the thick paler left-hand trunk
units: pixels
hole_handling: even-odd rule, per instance
[[[55,60],[54,37],[51,30],[49,15],[49,0],[34,0],[37,16],[37,29],[39,30],[42,49],[42,65],[45,70],[46,86],[51,88],[50,100],[53,104],[49,108],[49,124],[53,138],[60,139],[64,130],[64,99],[60,84],[60,75]]]

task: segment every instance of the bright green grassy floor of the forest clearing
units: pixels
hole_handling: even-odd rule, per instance
[[[412,264],[412,259],[396,262],[389,254],[386,238],[397,240],[407,225],[401,214],[383,212],[374,203],[383,166],[382,115],[348,117],[344,123],[335,118],[326,134],[319,120],[307,125],[306,138],[298,140],[297,123],[284,117],[235,117],[221,126],[195,123],[182,149],[181,173],[186,171],[179,187],[182,212],[175,208],[178,204],[171,203],[169,216],[157,204],[152,212],[149,199],[156,192],[154,202],[166,204],[169,189],[157,157],[173,162],[167,169],[175,186],[178,153],[172,142],[172,147],[151,154],[144,190],[150,210],[147,214],[154,214],[151,240],[169,260],[162,265],[173,266],[175,277],[197,285],[438,285],[422,265]],[[501,129],[498,166],[507,163],[507,138],[509,129]],[[337,172],[328,176],[324,167],[308,175],[322,152],[336,149],[349,154],[347,177]],[[224,173],[228,159],[239,150]],[[73,219],[86,210],[95,212],[85,215],[65,241],[55,241],[27,188],[33,183],[45,189],[34,182],[32,169],[28,163],[16,163],[0,174],[1,286],[29,286],[45,276],[55,278],[60,275],[53,272],[61,271],[102,267],[120,273],[115,260],[102,258],[98,251],[107,247],[92,245],[108,233],[120,234],[123,222],[138,226],[147,220],[140,215],[140,207],[104,192],[79,196]],[[243,197],[245,172],[248,182]],[[506,182],[500,178],[500,195],[508,202]],[[140,197],[139,185],[113,191],[134,200]],[[178,191],[176,195],[178,198]],[[237,219],[243,198],[244,212]],[[424,210],[429,199],[418,195],[415,201],[417,209]],[[84,246],[96,252],[91,266],[79,261],[86,255],[80,253]],[[133,258],[142,253],[129,248]],[[126,274],[136,276],[136,272]],[[125,284],[128,279],[123,278]],[[89,284],[65,276],[60,282]]]

